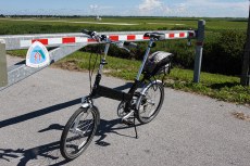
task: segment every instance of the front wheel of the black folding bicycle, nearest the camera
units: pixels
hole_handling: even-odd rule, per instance
[[[90,144],[98,127],[97,107],[78,108],[67,122],[61,137],[60,151],[64,158],[78,157]]]

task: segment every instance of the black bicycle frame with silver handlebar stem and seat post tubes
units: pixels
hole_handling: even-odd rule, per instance
[[[92,106],[92,100],[91,99],[97,97],[97,95],[105,97],[105,98],[113,99],[113,100],[118,100],[118,101],[125,101],[125,102],[130,101],[133,99],[133,95],[134,95],[136,89],[140,86],[140,84],[143,80],[147,79],[146,77],[143,77],[140,80],[140,76],[142,74],[146,61],[147,61],[147,59],[149,56],[149,53],[150,53],[150,50],[152,48],[153,42],[154,42],[154,40],[150,39],[148,48],[147,48],[146,53],[143,55],[143,61],[142,61],[142,63],[140,65],[140,68],[139,68],[138,73],[137,73],[137,77],[136,77],[133,86],[130,87],[130,89],[129,89],[129,91],[127,93],[100,85],[103,67],[107,64],[105,63],[105,56],[108,55],[111,42],[105,43],[104,55],[101,59],[98,73],[96,75],[96,80],[95,80],[95,84],[93,84],[93,88],[92,88],[90,94],[83,99],[82,106],[83,107]]]

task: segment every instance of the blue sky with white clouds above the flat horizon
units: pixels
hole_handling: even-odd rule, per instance
[[[248,17],[249,0],[0,0],[0,14]]]

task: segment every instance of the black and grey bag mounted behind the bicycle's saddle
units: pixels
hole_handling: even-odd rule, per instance
[[[157,51],[149,55],[143,72],[151,76],[158,74],[170,74],[171,62],[174,55],[170,52]]]

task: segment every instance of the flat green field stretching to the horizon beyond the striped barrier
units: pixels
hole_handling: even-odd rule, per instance
[[[49,33],[79,33],[82,29],[97,31],[129,31],[129,30],[167,30],[196,29],[198,18],[164,18],[164,17],[103,17],[96,22],[93,17],[83,18],[1,18],[0,35],[49,34]],[[92,22],[93,24],[83,23]],[[126,23],[124,25],[109,25],[97,23]],[[247,29],[247,20],[211,20],[207,21],[207,31],[225,29]]]

